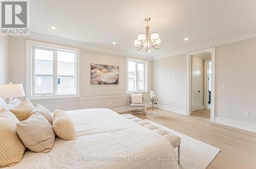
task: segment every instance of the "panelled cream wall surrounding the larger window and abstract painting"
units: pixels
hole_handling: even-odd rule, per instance
[[[121,111],[127,108],[126,94],[126,57],[116,54],[103,53],[84,49],[81,42],[71,41],[44,35],[43,38],[29,37],[31,40],[45,41],[61,45],[70,45],[80,49],[80,97],[67,99],[34,100],[33,104],[42,104],[49,110],[55,109],[74,110],[83,108],[111,108]],[[9,39],[9,81],[23,83],[26,86],[25,58],[26,38],[12,36]],[[91,85],[90,64],[99,63],[119,66],[119,85]],[[149,86],[152,89],[152,61],[148,62]],[[144,94],[148,100],[147,93]],[[110,104],[111,102],[111,104]]]

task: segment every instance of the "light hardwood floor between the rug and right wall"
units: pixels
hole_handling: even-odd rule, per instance
[[[207,168],[256,168],[256,133],[216,123],[208,119],[186,116],[159,109],[159,115],[131,112],[141,119],[149,119],[165,127],[221,149]],[[129,112],[122,112],[125,114]],[[182,155],[181,155],[182,156]]]

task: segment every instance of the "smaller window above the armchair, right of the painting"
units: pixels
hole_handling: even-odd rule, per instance
[[[127,92],[147,91],[147,61],[127,59]]]

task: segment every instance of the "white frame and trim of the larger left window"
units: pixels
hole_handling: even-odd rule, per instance
[[[47,50],[58,50],[58,51],[65,51],[65,52],[75,52],[76,53],[76,64],[75,64],[75,85],[76,85],[76,93],[63,93],[63,94],[35,94],[33,93],[33,82],[32,77],[34,76],[34,70],[33,70],[33,48],[38,47],[42,49]],[[56,57],[54,57],[57,59]],[[54,59],[53,58],[53,59]],[[77,98],[80,96],[80,50],[75,47],[69,47],[69,46],[63,46],[63,45],[57,45],[57,44],[51,44],[46,42],[38,42],[33,40],[26,40],[26,97],[30,100],[40,100],[40,99],[59,99],[59,98]],[[57,69],[57,67],[53,67],[54,69]],[[57,72],[57,71],[56,71]],[[55,78],[56,75],[53,75],[53,78]],[[54,80],[54,79],[53,79]],[[54,81],[57,81],[55,79]]]

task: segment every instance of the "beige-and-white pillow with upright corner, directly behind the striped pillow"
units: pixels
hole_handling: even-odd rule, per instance
[[[26,98],[15,108],[9,109],[20,121],[26,120],[29,117],[29,113],[33,110],[33,104]]]

